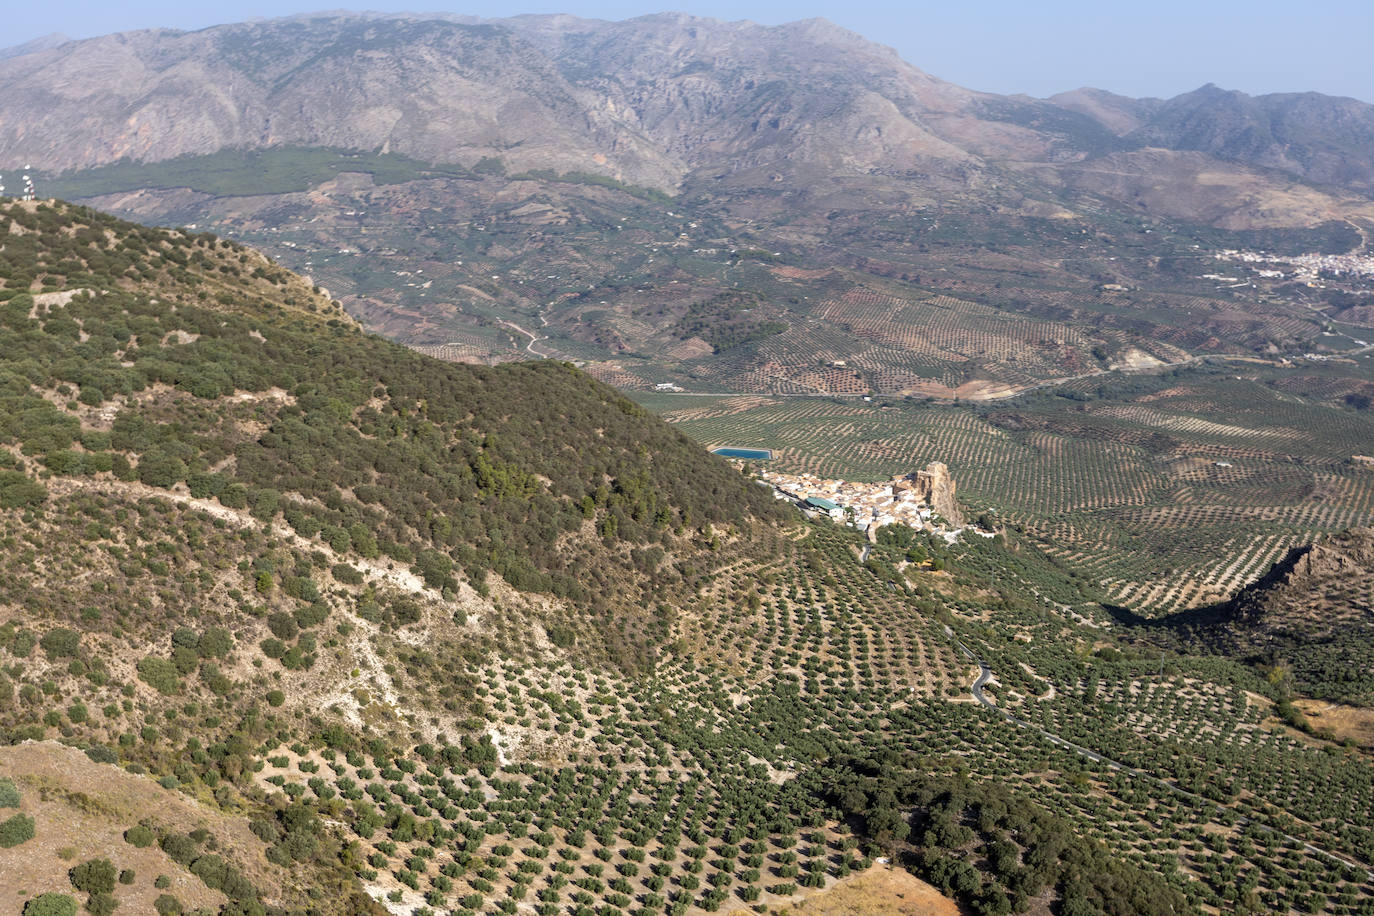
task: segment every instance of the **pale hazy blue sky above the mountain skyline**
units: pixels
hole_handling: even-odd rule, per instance
[[[327,3],[328,0],[322,0]],[[265,0],[51,0],[7,4],[0,47],[60,32],[88,37],[125,29],[201,29],[317,7]],[[372,0],[371,10],[441,5]],[[764,23],[826,16],[889,44],[918,67],[974,89],[1052,95],[1083,85],[1171,96],[1216,82],[1245,92],[1315,89],[1374,102],[1371,0],[471,0],[447,8],[481,16],[572,12],[625,19],[682,10]]]

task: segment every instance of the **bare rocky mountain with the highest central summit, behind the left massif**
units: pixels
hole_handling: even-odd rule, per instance
[[[823,19],[763,27],[662,14],[506,25],[690,166],[859,173],[971,162],[923,118],[977,93]]]

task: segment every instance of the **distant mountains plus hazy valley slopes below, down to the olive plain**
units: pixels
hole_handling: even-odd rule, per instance
[[[991,398],[1362,346],[1326,327],[1366,320],[1358,283],[1202,258],[1364,250],[1371,136],[1311,93],[974,92],[823,19],[317,14],[0,59],[0,169],[41,195],[250,243],[444,358],[622,389]]]

